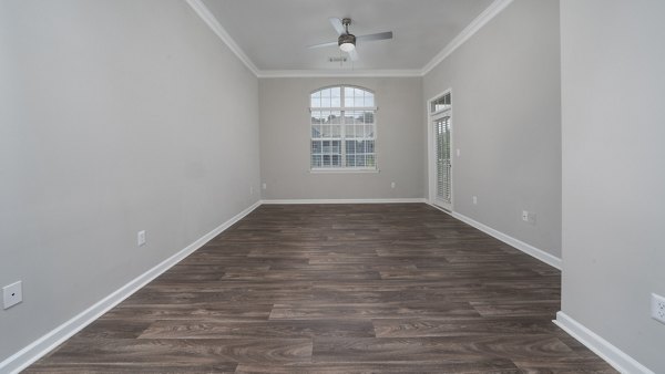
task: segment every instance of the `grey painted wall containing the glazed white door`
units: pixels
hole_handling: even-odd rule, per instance
[[[452,90],[453,210],[556,257],[559,38],[557,0],[516,0],[422,81],[424,100]]]

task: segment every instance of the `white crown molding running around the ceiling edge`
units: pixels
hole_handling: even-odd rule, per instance
[[[462,30],[443,50],[430,60],[422,69],[395,70],[259,70],[243,52],[241,46],[231,38],[217,18],[203,3],[203,0],[185,0],[201,19],[222,39],[235,55],[254,73],[256,77],[391,77],[391,76],[424,76],[454,50],[462,45],[485,23],[499,14],[513,0],[494,0],[482,13]]]

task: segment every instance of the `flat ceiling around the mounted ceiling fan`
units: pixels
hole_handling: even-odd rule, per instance
[[[260,71],[421,70],[492,0],[204,0],[204,4]],[[358,43],[359,61],[334,42],[328,18],[351,18],[349,31],[392,31],[392,40]]]

